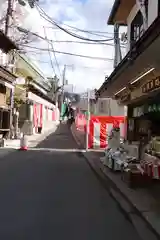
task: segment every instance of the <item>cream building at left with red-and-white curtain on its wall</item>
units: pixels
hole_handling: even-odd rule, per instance
[[[19,108],[19,128],[31,135],[56,120],[55,102],[48,97],[48,80],[25,56],[16,56],[15,74],[20,80],[15,94],[23,100]],[[22,82],[21,82],[22,81]]]

